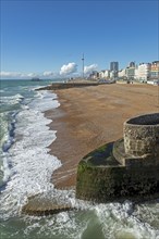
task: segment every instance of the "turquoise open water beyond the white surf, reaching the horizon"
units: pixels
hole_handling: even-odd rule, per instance
[[[30,80],[1,80],[0,81],[0,168],[2,159],[14,142],[14,128],[16,115],[30,103],[37,95],[35,88],[45,86],[50,81]],[[2,184],[2,171],[0,171],[0,185]]]

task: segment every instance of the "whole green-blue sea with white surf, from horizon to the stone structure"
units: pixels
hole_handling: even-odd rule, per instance
[[[57,130],[50,130],[45,111],[56,112],[60,103],[54,92],[36,89],[52,83],[0,81],[0,239],[159,239],[159,199],[97,204],[50,183],[62,164],[49,153]],[[22,207],[37,194],[57,197],[75,210],[23,214]]]

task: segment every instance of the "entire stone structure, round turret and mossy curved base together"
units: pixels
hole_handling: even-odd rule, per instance
[[[76,197],[95,202],[159,197],[159,113],[124,123],[124,138],[90,152],[78,164]]]

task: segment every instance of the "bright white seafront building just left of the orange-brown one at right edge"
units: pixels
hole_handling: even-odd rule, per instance
[[[138,65],[138,79],[147,81],[150,77],[150,63],[140,63]]]

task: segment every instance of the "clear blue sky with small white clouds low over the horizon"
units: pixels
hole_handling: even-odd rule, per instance
[[[158,0],[0,0],[1,78],[80,76],[159,60]]]

